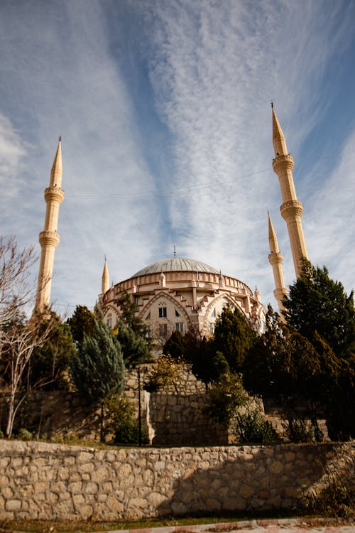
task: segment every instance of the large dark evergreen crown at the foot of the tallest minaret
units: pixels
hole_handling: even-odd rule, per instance
[[[315,331],[338,356],[355,352],[355,307],[339,281],[329,278],[327,268],[313,266],[303,259],[300,277],[285,296],[288,324],[312,342]]]

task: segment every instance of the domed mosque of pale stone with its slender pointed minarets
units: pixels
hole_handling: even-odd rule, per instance
[[[273,107],[273,106],[272,106]],[[300,275],[301,259],[307,258],[307,249],[302,230],[302,203],[297,200],[293,183],[293,157],[288,153],[285,136],[278,118],[273,112],[273,170],[278,175],[283,204],[280,212],[285,219],[290,238],[296,277]],[[58,246],[57,232],[59,208],[64,198],[61,189],[62,154],[59,141],[57,153],[50,173],[50,185],[45,189],[47,204],[45,226],[40,232],[40,271],[36,308],[42,311],[50,303],[50,284],[53,275],[55,248]],[[275,281],[274,295],[278,308],[283,311],[283,297],[288,294],[283,280],[283,255],[278,249],[278,240],[273,223],[268,216],[268,237],[270,245],[269,262]],[[173,330],[182,333],[189,329],[201,335],[214,332],[217,317],[226,305],[238,308],[256,328],[263,330],[265,307],[258,290],[252,291],[243,281],[222,274],[213,266],[195,259],[173,257],[162,259],[145,266],[129,279],[110,286],[107,262],[102,274],[102,292],[99,307],[104,321],[114,328],[121,316],[120,303],[129,294],[135,304],[136,316],[151,328],[155,352],[165,343]]]

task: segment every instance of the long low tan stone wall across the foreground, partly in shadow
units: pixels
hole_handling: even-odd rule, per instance
[[[293,508],[336,475],[354,486],[355,443],[95,450],[0,441],[0,519],[146,519]]]

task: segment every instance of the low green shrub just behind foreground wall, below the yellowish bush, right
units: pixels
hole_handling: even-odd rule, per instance
[[[241,444],[272,444],[278,440],[275,430],[259,409],[236,412],[236,431]]]

